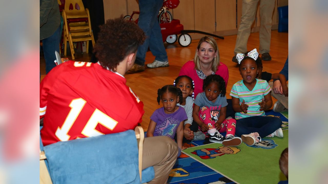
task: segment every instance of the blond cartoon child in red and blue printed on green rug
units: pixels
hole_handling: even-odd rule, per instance
[[[216,156],[222,156],[224,154],[236,154],[239,151],[240,149],[238,149],[235,146],[221,146],[218,149],[204,148],[201,150],[195,150],[194,152],[191,153],[199,156],[202,159],[210,159],[210,158],[215,158]]]

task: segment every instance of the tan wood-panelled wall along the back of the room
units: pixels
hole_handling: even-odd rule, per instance
[[[180,0],[176,9],[170,9],[174,19],[179,19],[184,29],[199,30],[220,36],[237,34],[242,0]],[[277,7],[288,5],[288,0],[276,0],[272,15],[272,28],[277,29]],[[136,0],[104,0],[105,20],[139,11]],[[252,32],[259,30],[259,10],[252,25]],[[136,20],[138,15],[133,15]],[[193,34],[193,39],[203,35]]]

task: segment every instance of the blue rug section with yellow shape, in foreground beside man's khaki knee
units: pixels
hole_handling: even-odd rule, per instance
[[[234,183],[228,178],[216,173],[191,157],[180,158],[175,162],[167,183],[197,183],[206,184],[223,181],[220,183]]]

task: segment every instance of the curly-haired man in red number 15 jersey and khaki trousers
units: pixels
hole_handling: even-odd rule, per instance
[[[126,85],[144,32],[123,18],[101,26],[94,46],[98,63],[65,62],[40,83],[43,144],[134,129],[144,114],[143,103]],[[175,163],[177,144],[167,137],[145,138],[142,169],[154,166],[149,183],[166,183]]]

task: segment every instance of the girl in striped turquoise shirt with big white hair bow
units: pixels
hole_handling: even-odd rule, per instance
[[[236,112],[236,135],[250,146],[261,141],[261,137],[282,138],[282,121],[264,113],[272,106],[271,88],[268,82],[256,79],[259,72],[257,62],[261,60],[256,48],[245,54],[237,54],[236,58],[243,78],[233,85],[230,92]]]

